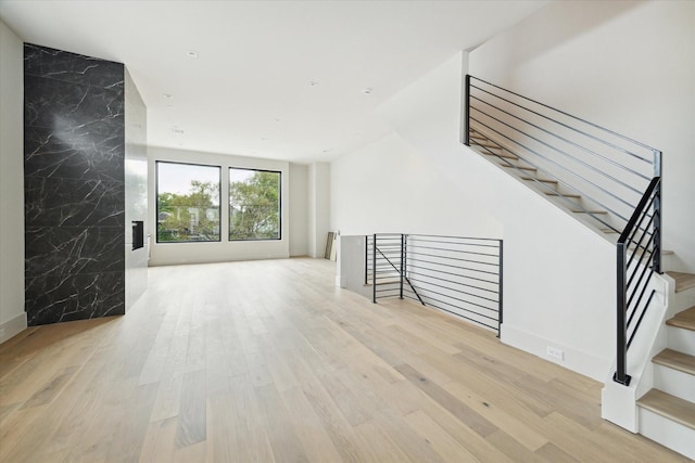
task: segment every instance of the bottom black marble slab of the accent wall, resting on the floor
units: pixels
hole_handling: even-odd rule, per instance
[[[26,279],[29,326],[125,313],[125,273],[47,273]]]

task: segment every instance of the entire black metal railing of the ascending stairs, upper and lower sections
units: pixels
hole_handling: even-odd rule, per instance
[[[615,381],[628,385],[628,349],[661,272],[661,152],[470,75],[465,105],[466,145],[618,236]]]

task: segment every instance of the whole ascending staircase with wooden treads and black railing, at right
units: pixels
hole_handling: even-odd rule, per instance
[[[660,276],[673,254],[661,249],[660,152],[471,76],[466,88],[466,144],[617,244],[618,360],[604,402],[618,397],[632,417],[608,419],[695,460],[695,275]],[[673,314],[662,329],[658,309]],[[643,319],[654,326],[635,339]]]

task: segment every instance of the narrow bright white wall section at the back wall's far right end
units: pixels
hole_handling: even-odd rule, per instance
[[[308,166],[308,255],[324,257],[330,227],[330,164]]]

